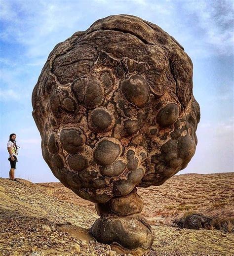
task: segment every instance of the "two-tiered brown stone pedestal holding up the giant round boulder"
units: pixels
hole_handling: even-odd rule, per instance
[[[127,196],[116,197],[105,204],[95,204],[99,219],[91,234],[100,243],[110,244],[117,252],[143,254],[150,250],[154,235],[147,220],[140,214],[144,202],[136,188]]]

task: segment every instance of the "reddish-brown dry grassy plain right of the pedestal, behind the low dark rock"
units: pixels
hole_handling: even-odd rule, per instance
[[[145,199],[143,214],[154,222],[190,213],[234,218],[234,172],[182,174],[158,187],[138,188]]]

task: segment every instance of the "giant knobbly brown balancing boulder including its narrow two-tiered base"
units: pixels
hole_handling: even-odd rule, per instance
[[[49,54],[32,96],[43,158],[66,187],[95,203],[98,241],[150,249],[136,187],[161,185],[195,154],[192,77],[184,48],[130,15],[100,19]]]

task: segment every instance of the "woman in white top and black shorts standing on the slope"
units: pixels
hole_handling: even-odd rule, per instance
[[[10,161],[10,180],[15,180],[15,169],[16,169],[16,162],[17,156],[18,156],[18,146],[16,146],[16,134],[11,133],[9,137],[9,141],[7,143],[7,150],[9,152],[9,158],[8,160]]]

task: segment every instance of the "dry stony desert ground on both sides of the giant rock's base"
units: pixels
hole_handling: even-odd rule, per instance
[[[233,191],[234,172],[176,175],[159,187],[138,188],[155,233],[146,255],[234,255]],[[219,229],[174,226],[193,213],[219,220]],[[0,178],[0,255],[117,255],[89,235],[98,217],[93,203],[61,183]]]

